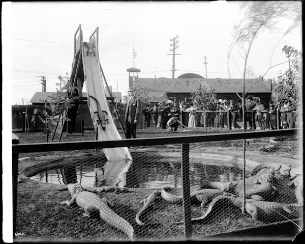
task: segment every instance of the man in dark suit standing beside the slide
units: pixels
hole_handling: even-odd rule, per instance
[[[139,121],[139,111],[141,111],[141,101],[134,95],[134,89],[129,89],[129,97],[126,101],[126,139],[130,139],[131,135],[136,138],[136,126]]]

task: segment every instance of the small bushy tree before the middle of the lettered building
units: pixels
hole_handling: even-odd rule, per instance
[[[205,81],[196,84],[196,90],[192,94],[193,104],[199,110],[215,111],[216,110],[216,92],[206,84]]]

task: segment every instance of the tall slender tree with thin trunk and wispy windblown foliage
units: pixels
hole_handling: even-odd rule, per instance
[[[277,28],[281,18],[288,18],[292,21],[291,25],[284,32],[282,38],[287,35],[291,30],[296,28],[301,20],[301,3],[297,1],[253,1],[253,2],[242,2],[241,3],[241,12],[243,17],[240,22],[234,26],[233,30],[233,40],[228,50],[227,57],[227,68],[230,76],[229,69],[229,60],[232,59],[235,64],[236,61],[232,58],[232,51],[235,46],[238,47],[238,52],[243,59],[243,74],[242,74],[242,107],[245,107],[245,95],[250,89],[258,83],[261,78],[258,78],[257,81],[251,85],[248,90],[245,92],[245,78],[247,72],[247,62],[250,55],[250,50],[253,45],[254,40],[264,31],[264,30],[274,30]],[[281,38],[281,39],[282,39]],[[277,43],[277,45],[279,42]],[[276,45],[276,46],[277,46]],[[273,51],[275,48],[273,49]],[[267,69],[265,74],[273,67],[280,65],[271,65],[270,57],[270,67]],[[286,62],[284,62],[286,63]],[[283,64],[283,63],[282,63]],[[264,76],[264,75],[263,75]],[[233,84],[232,84],[233,85]],[[236,89],[235,89],[236,91]],[[243,122],[243,131],[246,131],[245,123],[245,110],[242,110],[242,122]],[[242,169],[242,179],[243,179],[243,204],[242,204],[242,213],[245,212],[246,205],[246,188],[245,188],[245,178],[246,178],[246,139],[243,140],[243,169]]]

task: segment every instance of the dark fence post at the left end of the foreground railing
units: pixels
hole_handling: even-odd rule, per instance
[[[12,144],[16,145],[19,143],[17,135],[12,133]],[[16,214],[17,214],[17,189],[18,189],[18,152],[12,153],[12,173],[13,173],[13,236],[16,232]]]

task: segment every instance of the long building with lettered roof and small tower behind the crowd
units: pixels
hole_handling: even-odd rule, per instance
[[[130,72],[131,69],[128,69]],[[233,99],[237,101],[242,97],[242,79],[224,79],[224,78],[204,78],[198,74],[187,73],[177,78],[139,78],[137,71],[132,70],[133,76],[129,75],[129,86],[139,85],[147,92],[150,102],[167,101],[168,99],[177,102],[191,101],[192,93],[195,92],[196,86],[205,82],[210,87],[214,87],[217,93],[217,99]],[[130,72],[131,74],[131,72]],[[259,80],[261,79],[261,80]],[[249,91],[248,91],[249,89]],[[261,103],[265,106],[271,100],[272,87],[270,80],[265,81],[263,78],[246,79],[245,91],[248,96],[259,97]]]

